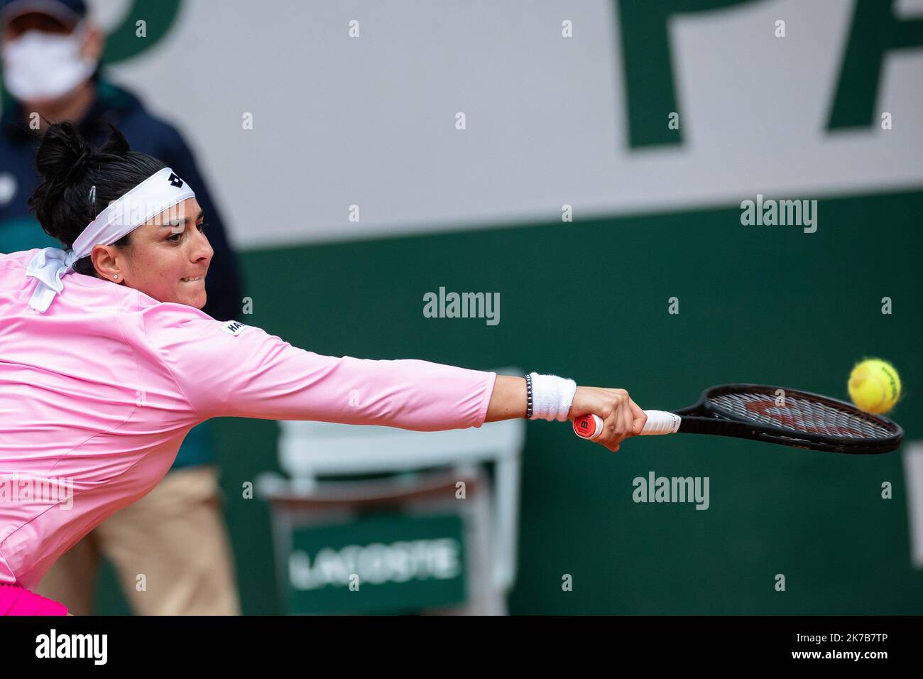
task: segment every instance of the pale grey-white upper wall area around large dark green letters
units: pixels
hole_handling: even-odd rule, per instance
[[[111,25],[127,4],[94,5]],[[191,0],[112,72],[184,130],[245,248],[557,219],[564,203],[590,216],[920,187],[923,51],[886,56],[877,110],[893,130],[824,130],[852,8],[675,18],[686,143],[653,151],[626,145],[609,0]]]

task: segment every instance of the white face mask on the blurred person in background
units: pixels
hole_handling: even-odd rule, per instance
[[[21,102],[41,102],[66,94],[96,69],[80,57],[83,26],[69,35],[30,30],[3,47],[6,89]]]

